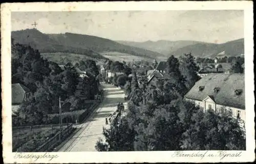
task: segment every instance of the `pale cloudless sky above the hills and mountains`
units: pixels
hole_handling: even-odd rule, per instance
[[[243,10],[12,12],[12,31],[76,33],[111,40],[195,40],[224,43],[244,38]]]

